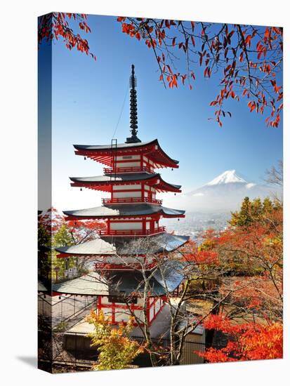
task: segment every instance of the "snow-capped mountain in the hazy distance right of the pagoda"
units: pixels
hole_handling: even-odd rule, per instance
[[[249,182],[235,170],[221,173],[202,187],[180,196],[187,211],[235,211],[244,197],[272,197],[273,187]],[[178,203],[176,203],[178,205]]]

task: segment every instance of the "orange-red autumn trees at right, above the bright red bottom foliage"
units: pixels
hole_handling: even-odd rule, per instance
[[[220,293],[228,293],[230,289],[233,304],[242,312],[254,310],[257,317],[268,323],[282,322],[282,204],[265,206],[264,210],[259,217],[256,213],[248,213],[246,225],[232,225],[223,232],[207,232],[201,248],[216,252],[220,264],[228,269]],[[241,213],[242,210],[233,213],[233,219],[237,220]]]

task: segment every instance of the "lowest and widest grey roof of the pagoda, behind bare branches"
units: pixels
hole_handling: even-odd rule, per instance
[[[174,291],[183,281],[180,262],[169,260],[162,265],[162,271],[157,268],[150,278],[150,295],[164,295],[166,286],[169,292]],[[96,272],[90,272],[77,279],[53,284],[53,291],[75,295],[129,295],[132,292],[144,292],[144,277],[139,271],[110,272],[107,281]]]

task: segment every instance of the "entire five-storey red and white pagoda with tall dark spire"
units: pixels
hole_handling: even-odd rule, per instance
[[[105,167],[104,174],[100,176],[71,177],[71,185],[107,192],[110,197],[102,200],[102,206],[65,211],[66,219],[102,219],[106,221],[107,228],[100,230],[99,237],[93,241],[57,248],[58,258],[90,257],[95,262],[95,272],[64,284],[56,284],[53,291],[98,295],[97,308],[110,314],[112,324],[120,321],[126,323],[132,312],[140,321],[143,318],[142,296],[130,294],[136,293],[136,288],[139,293],[144,289],[144,272],[141,274],[138,271],[140,259],[143,259],[150,276],[150,297],[146,308],[147,321],[152,324],[164,307],[166,293],[175,291],[183,280],[177,262],[168,260],[160,272],[156,258],[162,258],[173,251],[178,253],[178,248],[189,237],[169,234],[164,226],[159,225],[162,218],[185,217],[185,211],[165,208],[162,200],[157,199],[159,192],[181,192],[180,185],[166,182],[155,171],[159,168],[178,168],[178,161],[164,152],[157,139],[142,142],[137,136],[134,65],[130,87],[131,137],[126,138],[124,143],[112,140],[110,145],[74,145],[75,154],[98,161]],[[148,248],[154,258],[146,257]]]

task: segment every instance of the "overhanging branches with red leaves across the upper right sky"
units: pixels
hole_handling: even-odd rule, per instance
[[[278,127],[282,110],[282,84],[276,74],[282,70],[282,28],[253,25],[228,25],[152,18],[117,18],[122,32],[145,45],[154,53],[160,81],[169,88],[187,82],[192,89],[195,67],[204,68],[205,78],[215,78],[219,92],[210,105],[221,118],[227,100],[247,100],[250,112],[268,111],[266,123]],[[178,66],[178,58],[182,66]],[[176,68],[176,67],[180,67]]]

